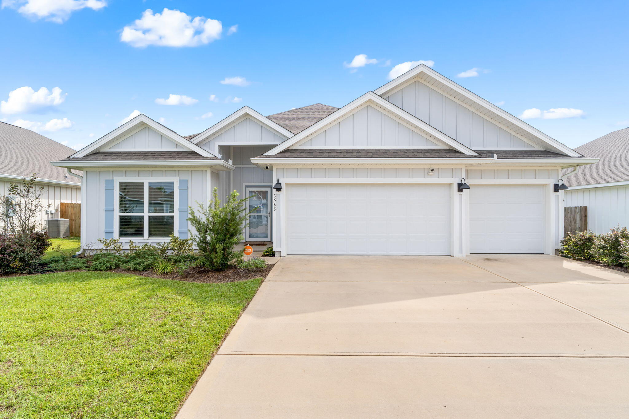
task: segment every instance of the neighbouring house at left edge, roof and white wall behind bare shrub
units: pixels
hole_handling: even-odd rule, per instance
[[[79,179],[68,175],[64,168],[50,165],[50,159],[74,153],[72,148],[5,122],[0,122],[0,144],[0,195],[9,195],[11,183],[21,183],[35,173],[37,187],[43,188],[43,210],[36,219],[39,228],[46,228],[47,219],[59,217],[60,203],[81,202]]]

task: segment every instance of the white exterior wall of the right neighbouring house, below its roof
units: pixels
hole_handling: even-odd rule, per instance
[[[629,185],[564,191],[565,207],[587,207],[587,228],[596,234],[629,227]]]

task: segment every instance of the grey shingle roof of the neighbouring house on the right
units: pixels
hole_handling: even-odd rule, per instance
[[[593,165],[579,167],[574,175],[566,177],[565,184],[569,187],[629,180],[629,128],[619,129],[574,150],[600,160]]]

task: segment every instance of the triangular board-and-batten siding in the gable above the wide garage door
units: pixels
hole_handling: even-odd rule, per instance
[[[311,146],[433,146],[433,143],[373,106],[365,106],[316,134],[298,148]]]

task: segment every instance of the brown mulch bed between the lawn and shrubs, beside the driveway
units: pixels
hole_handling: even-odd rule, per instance
[[[130,275],[150,276],[151,278],[162,278],[164,280],[177,280],[196,283],[225,283],[235,281],[252,280],[253,278],[264,278],[269,275],[272,264],[269,264],[264,269],[259,271],[251,271],[248,269],[230,268],[225,271],[211,271],[207,268],[190,268],[186,269],[186,273],[183,276],[179,275],[157,275],[153,271],[127,271],[126,269],[113,269],[111,272],[128,273]]]

